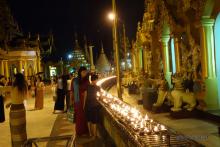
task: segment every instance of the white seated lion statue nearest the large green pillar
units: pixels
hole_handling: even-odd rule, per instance
[[[183,76],[181,73],[176,74],[172,77],[174,89],[171,92],[174,106],[171,108],[172,111],[177,112],[182,110],[182,103],[185,102],[187,105],[184,106],[188,111],[192,111],[196,106],[196,99],[194,98],[193,92],[186,91],[183,86]]]

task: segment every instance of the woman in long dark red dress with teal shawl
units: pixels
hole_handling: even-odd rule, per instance
[[[84,94],[89,84],[87,69],[80,67],[78,70],[78,77],[72,80],[72,99],[74,102],[74,120],[76,135],[82,136],[88,134],[88,127],[83,110],[84,105]]]

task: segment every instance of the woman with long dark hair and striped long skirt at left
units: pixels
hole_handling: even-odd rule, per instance
[[[26,112],[24,100],[27,98],[27,83],[23,74],[17,73],[12,86],[10,108],[10,130],[12,147],[21,147],[27,140]]]

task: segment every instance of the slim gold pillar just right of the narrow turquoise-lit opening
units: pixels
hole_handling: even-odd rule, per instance
[[[176,72],[181,72],[181,55],[179,48],[179,40],[177,37],[174,37],[174,48],[175,48],[175,59],[176,59]]]

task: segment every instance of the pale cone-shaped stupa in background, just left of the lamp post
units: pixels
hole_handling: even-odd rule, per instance
[[[111,69],[111,65],[108,61],[107,56],[105,55],[104,48],[102,45],[101,54],[96,62],[96,70],[97,72],[108,72]]]

